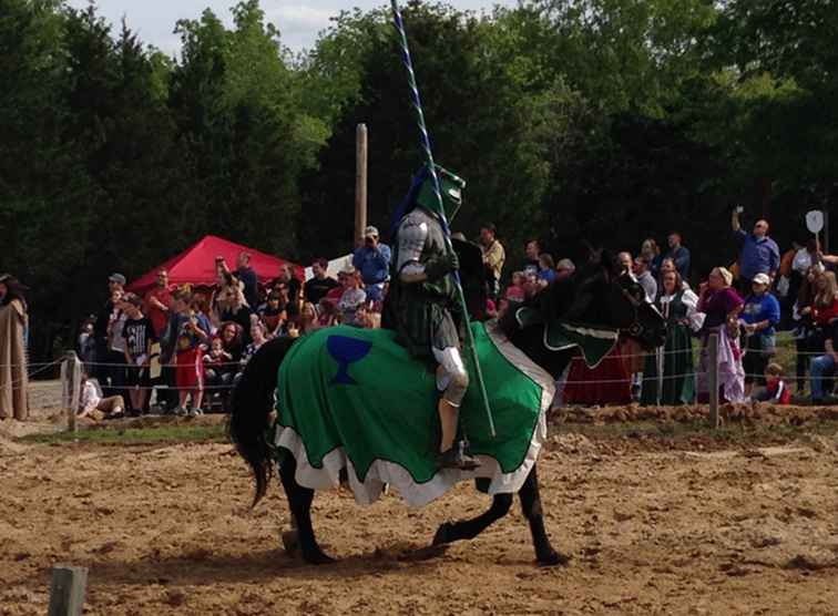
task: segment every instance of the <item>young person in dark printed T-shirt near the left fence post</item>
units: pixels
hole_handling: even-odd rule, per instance
[[[125,314],[127,319],[122,326],[125,339],[125,384],[131,399],[130,412],[142,414],[145,399],[151,389],[151,347],[154,341],[154,325],[143,316],[143,300],[136,295],[126,296]]]

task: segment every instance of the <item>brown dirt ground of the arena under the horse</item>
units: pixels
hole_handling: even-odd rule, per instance
[[[834,431],[672,444],[559,423],[540,479],[554,546],[573,559],[548,569],[518,509],[415,557],[440,522],[488,505],[468,484],[421,511],[319,493],[319,538],[340,562],[310,567],[278,547],[277,484],[251,510],[226,444],[0,438],[0,615],[44,614],[58,563],[90,568],[96,615],[838,613]]]

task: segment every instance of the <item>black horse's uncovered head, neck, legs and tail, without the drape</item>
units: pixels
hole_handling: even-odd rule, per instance
[[[535,308],[544,321],[562,317],[620,329],[625,336],[635,338],[645,349],[660,346],[665,338],[664,320],[657,310],[646,302],[643,288],[633,277],[621,274],[610,259],[591,263],[572,278],[551,285],[527,306]],[[530,359],[553,378],[558,378],[576,351],[548,349],[544,343],[545,325],[542,322],[521,326],[515,312],[517,309],[511,308],[504,315],[500,322],[502,330]],[[266,429],[274,409],[278,368],[293,343],[293,340],[279,338],[263,345],[248,362],[234,391],[231,437],[238,452],[253,469],[256,482],[254,505],[265,495],[273,474],[274,456],[266,441]],[[315,538],[310,516],[314,490],[299,485],[295,473],[296,461],[288,452],[279,464],[279,478],[296,523],[296,536],[290,542],[286,541],[286,548],[289,548],[289,543],[298,545],[303,558],[308,563],[333,562],[333,558],[320,550]],[[532,532],[538,563],[566,563],[568,557],[551,546],[544,528],[535,466],[520,489],[519,496]],[[482,515],[440,525],[432,544],[442,546],[454,541],[473,538],[503,517],[511,505],[512,494],[497,494],[489,511]]]

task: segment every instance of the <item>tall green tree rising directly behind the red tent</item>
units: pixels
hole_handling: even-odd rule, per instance
[[[298,81],[258,2],[239,2],[233,14],[232,31],[209,10],[177,24],[183,61],[173,73],[171,107],[191,188],[181,228],[289,254],[297,176],[315,163],[326,130],[302,111]]]

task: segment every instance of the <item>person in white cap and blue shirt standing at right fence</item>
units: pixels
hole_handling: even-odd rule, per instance
[[[745,299],[745,307],[739,316],[746,336],[743,358],[745,396],[750,396],[755,381],[765,384],[765,368],[774,356],[774,335],[779,324],[780,310],[777,298],[768,292],[770,286],[771,279],[767,274],[759,273],[754,276],[750,284],[752,294]]]

